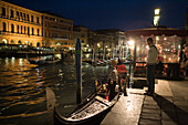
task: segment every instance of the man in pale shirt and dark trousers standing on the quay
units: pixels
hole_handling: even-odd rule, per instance
[[[147,53],[147,70],[146,70],[146,76],[147,76],[147,83],[148,83],[148,91],[146,91],[147,95],[153,95],[155,93],[155,66],[157,63],[157,55],[158,50],[156,45],[153,43],[153,39],[147,39],[147,44],[149,46],[148,53]]]

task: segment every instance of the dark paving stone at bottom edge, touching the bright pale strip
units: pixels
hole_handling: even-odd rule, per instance
[[[160,121],[140,118],[138,125],[161,125]]]

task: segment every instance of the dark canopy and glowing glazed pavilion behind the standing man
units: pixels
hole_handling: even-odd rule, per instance
[[[154,43],[160,52],[163,62],[178,62],[180,44],[182,39],[187,37],[187,31],[166,27],[154,27],[127,31],[126,35],[129,40],[135,41],[136,62],[146,62],[147,38],[153,38]]]

